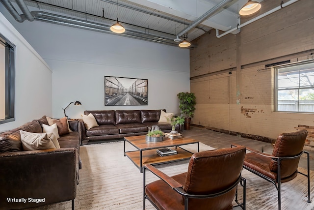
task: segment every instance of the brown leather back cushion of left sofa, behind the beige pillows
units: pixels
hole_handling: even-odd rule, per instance
[[[24,125],[0,134],[0,152],[23,151],[20,130],[42,133],[39,122],[27,122]]]

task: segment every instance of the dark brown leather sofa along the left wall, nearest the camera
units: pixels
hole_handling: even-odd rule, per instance
[[[42,133],[46,116],[0,134],[0,210],[24,209],[74,199],[79,169],[79,120],[60,136],[60,149],[24,151],[20,130]]]

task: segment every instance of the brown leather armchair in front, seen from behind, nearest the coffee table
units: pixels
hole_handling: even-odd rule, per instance
[[[245,147],[201,151],[192,155],[186,173],[173,177],[145,165],[143,209],[148,199],[158,210],[231,210],[241,180],[243,204],[237,203],[245,209],[244,156]],[[145,186],[146,170],[160,180]]]

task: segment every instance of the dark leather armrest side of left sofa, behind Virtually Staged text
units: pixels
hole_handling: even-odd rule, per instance
[[[73,200],[77,153],[75,148],[0,153],[0,207],[21,209]],[[27,200],[12,202],[10,198]]]

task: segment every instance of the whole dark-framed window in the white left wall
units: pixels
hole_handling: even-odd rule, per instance
[[[15,46],[0,34],[0,124],[14,121]]]

